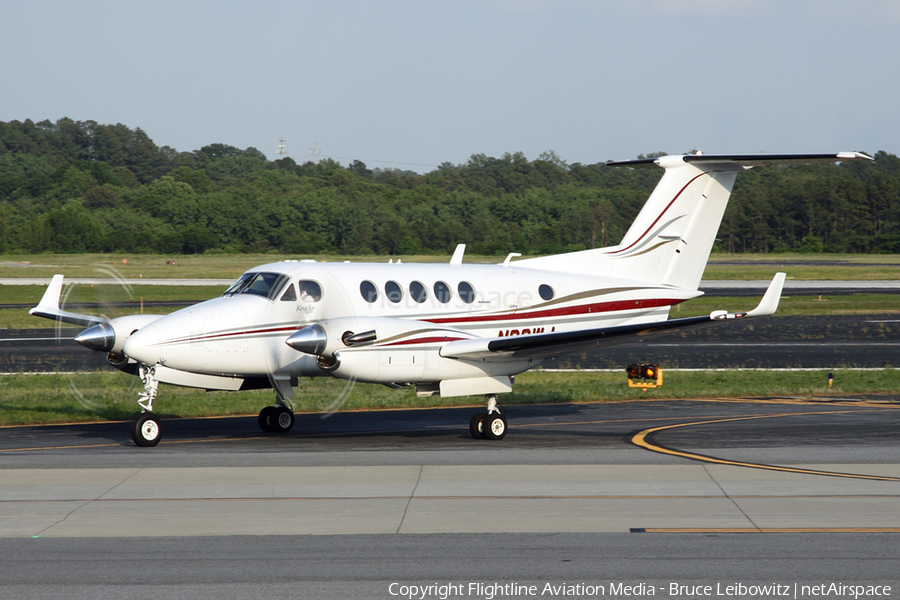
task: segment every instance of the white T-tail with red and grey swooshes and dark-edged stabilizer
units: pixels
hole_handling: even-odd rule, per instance
[[[696,290],[706,269],[734,180],[753,167],[872,160],[837,154],[662,156],[611,167],[662,167],[662,178],[617,246],[543,256],[515,264],[539,269],[611,275]]]

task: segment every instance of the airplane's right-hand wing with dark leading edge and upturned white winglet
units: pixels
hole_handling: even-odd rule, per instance
[[[733,319],[764,317],[775,313],[781,291],[784,287],[784,273],[777,273],[769,284],[759,305],[749,312],[729,313],[714,311],[702,317],[669,319],[658,323],[621,325],[537,335],[522,335],[503,338],[483,338],[450,342],[441,348],[441,356],[464,360],[510,360],[523,357],[545,359],[588,348],[598,348],[621,344],[633,337],[646,337],[673,330],[715,323],[725,323]]]

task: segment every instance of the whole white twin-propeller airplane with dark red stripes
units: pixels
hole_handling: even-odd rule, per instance
[[[506,435],[497,395],[513,377],[571,351],[634,336],[771,315],[784,273],[746,313],[669,319],[698,291],[735,177],[790,163],[872,160],[856,152],[814,155],[664,156],[611,166],[665,169],[617,246],[502,264],[323,263],[288,260],[250,269],[225,293],[170,315],[106,319],[59,307],[55,275],[30,313],[90,326],[79,344],[144,384],[132,425],[139,446],[159,443],[159,383],[207,390],[273,388],[259,413],[267,432],[294,424],[299,377],[415,385],[419,395],[484,395],[473,437]]]

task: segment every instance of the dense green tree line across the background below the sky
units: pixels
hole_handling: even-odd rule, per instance
[[[721,252],[900,252],[900,159],[753,169]],[[0,122],[0,252],[547,254],[617,243],[661,169],[472,155],[425,174],[158,147],[140,128]]]

